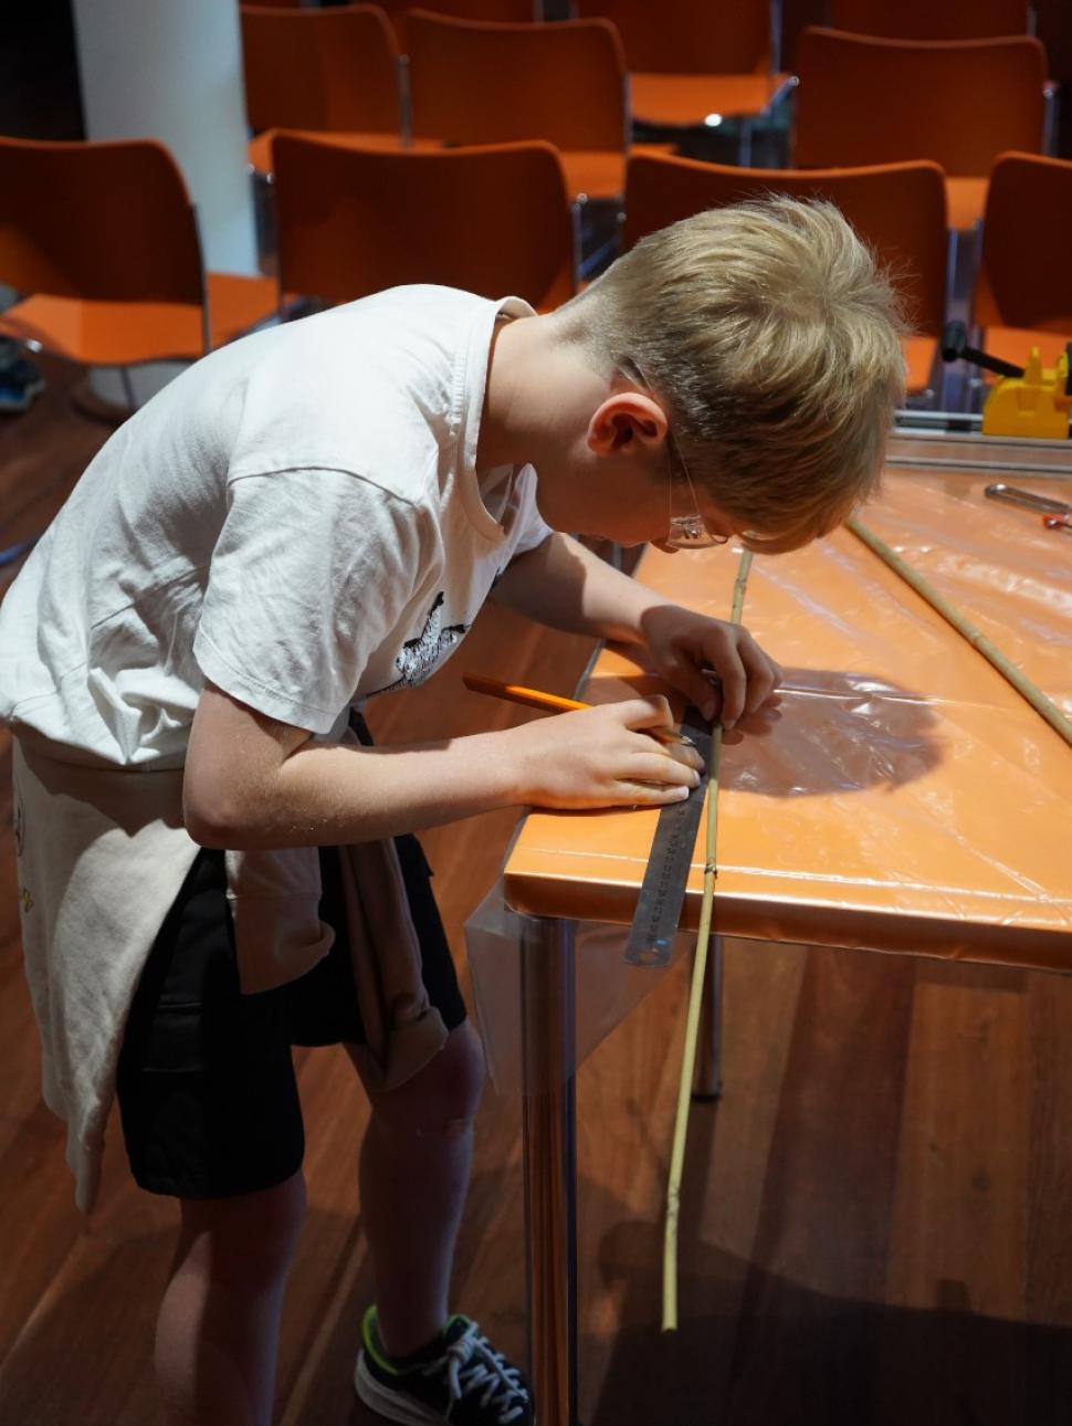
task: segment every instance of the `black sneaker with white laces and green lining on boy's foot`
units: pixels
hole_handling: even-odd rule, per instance
[[[533,1426],[532,1392],[516,1366],[456,1313],[439,1338],[392,1360],[379,1340],[376,1309],[361,1325],[354,1389],[381,1416],[406,1426]]]

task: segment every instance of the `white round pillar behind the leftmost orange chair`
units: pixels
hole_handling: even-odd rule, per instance
[[[197,207],[207,267],[257,272],[235,0],[74,0],[73,9],[86,137],[167,144]],[[138,398],[172,374],[153,379],[141,368]],[[111,376],[97,372],[94,389],[121,401]],[[108,378],[107,391],[97,378]]]

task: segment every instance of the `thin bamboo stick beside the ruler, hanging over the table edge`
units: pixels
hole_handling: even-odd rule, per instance
[[[751,550],[746,549],[737,569],[733,586],[731,623],[741,622],[744,589],[751,569]],[[723,724],[716,719],[711,726],[711,766],[707,780],[707,838],[704,850],[704,886],[700,903],[700,928],[696,933],[696,955],[693,958],[693,980],[689,988],[689,1014],[684,1028],[684,1050],[681,1051],[681,1078],[677,1085],[677,1114],[674,1117],[674,1138],[670,1148],[670,1178],[666,1189],[666,1222],[663,1229],[663,1330],[677,1329],[677,1224],[681,1211],[681,1169],[684,1166],[684,1142],[689,1134],[689,1105],[691,1102],[693,1071],[696,1068],[696,1041],[700,1032],[700,1004],[703,1001],[704,973],[707,970],[707,945],[711,937],[711,913],[714,908],[716,847],[718,843],[718,764],[723,750]]]

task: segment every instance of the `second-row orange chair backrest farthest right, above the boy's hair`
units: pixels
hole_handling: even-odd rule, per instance
[[[982,177],[1002,150],[1042,145],[1046,56],[1031,36],[872,40],[810,27],[797,74],[801,168],[932,158]]]

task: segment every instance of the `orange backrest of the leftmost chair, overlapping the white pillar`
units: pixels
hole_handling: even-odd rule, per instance
[[[204,270],[182,174],[153,138],[0,138],[0,282],[103,302],[197,302]]]

